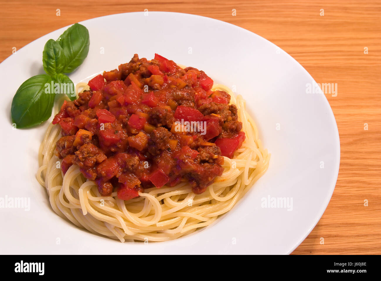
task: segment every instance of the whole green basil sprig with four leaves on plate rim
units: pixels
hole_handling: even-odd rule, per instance
[[[74,83],[64,73],[71,73],[85,60],[90,46],[89,32],[82,24],[70,26],[58,40],[46,42],[42,54],[45,72],[26,80],[13,97],[12,122],[16,128],[41,124],[51,116],[54,97],[66,94],[74,101]]]

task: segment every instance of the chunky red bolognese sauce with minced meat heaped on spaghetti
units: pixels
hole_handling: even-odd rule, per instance
[[[64,174],[78,165],[103,196],[117,191],[130,200],[144,188],[181,181],[201,194],[222,175],[223,156],[232,158],[245,140],[229,94],[211,91],[202,70],[158,54],[150,61],[134,54],[88,85],[54,117],[62,135],[56,155]],[[205,128],[179,130],[184,122]]]

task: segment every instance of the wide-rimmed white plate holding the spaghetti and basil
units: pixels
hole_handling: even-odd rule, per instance
[[[248,30],[191,14],[149,12],[104,16],[81,22],[90,32],[85,62],[69,77],[78,83],[130,61],[134,53],[159,53],[204,70],[216,83],[247,101],[264,147],[272,154],[266,174],[215,224],[175,241],[120,243],[93,235],[57,216],[35,179],[37,153],[48,125],[13,130],[14,93],[43,73],[51,32],[0,64],[0,197],[30,198],[30,211],[1,208],[0,253],[5,254],[288,254],[322,216],[339,170],[339,134],[324,94],[307,94],[313,78],[291,56]],[[104,50],[102,54],[101,50]],[[51,119],[50,119],[51,121]],[[278,126],[278,127],[277,127]],[[280,129],[279,129],[280,126]],[[279,129],[279,130],[277,130]],[[324,168],[322,167],[322,163]],[[262,208],[263,198],[292,198],[292,210]]]

